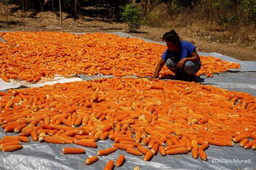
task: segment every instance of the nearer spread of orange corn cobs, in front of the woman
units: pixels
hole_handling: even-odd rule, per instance
[[[209,145],[256,149],[256,97],[210,85],[146,78],[94,79],[57,83],[41,88],[0,92],[0,124],[5,136],[2,151],[22,148],[33,141],[76,144],[97,148],[98,140],[115,141],[117,149],[144,155],[149,161],[160,155],[191,153],[207,160]],[[64,154],[85,153],[83,148],[64,148]],[[207,153],[210,155],[210,153]],[[121,166],[124,156],[116,162]],[[98,157],[86,160],[92,164]],[[113,167],[109,162],[107,167]],[[111,169],[111,168],[110,168]]]

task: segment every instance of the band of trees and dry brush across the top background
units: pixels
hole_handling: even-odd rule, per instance
[[[59,1],[1,0],[0,14],[8,23],[13,17],[42,19],[47,11],[52,12],[52,19],[57,22]],[[185,28],[192,35],[216,43],[229,43],[254,52],[256,48],[256,0],[61,0],[61,8],[64,25],[65,20],[79,23],[87,17],[88,22],[91,19],[125,23],[125,31],[134,33],[143,33],[144,28]],[[8,27],[4,20],[0,23]],[[160,39],[158,35],[157,38]],[[256,60],[255,53],[250,59]]]

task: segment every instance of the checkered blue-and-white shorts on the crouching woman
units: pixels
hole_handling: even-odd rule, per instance
[[[166,60],[166,66],[167,68],[169,68],[170,70],[174,70],[176,69],[176,65],[177,63],[175,62],[174,59],[167,59]],[[180,72],[180,73],[185,73],[185,74],[195,74],[196,72],[198,72],[201,68],[201,64],[196,62],[192,62],[192,61],[187,61],[185,62],[185,65],[183,68],[177,68],[177,70]]]

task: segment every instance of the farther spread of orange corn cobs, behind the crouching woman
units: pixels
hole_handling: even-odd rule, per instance
[[[74,35],[61,32],[2,32],[0,37],[0,74],[3,80],[38,82],[41,77],[78,74],[153,76],[166,46],[136,38],[94,33]],[[212,77],[214,73],[240,68],[237,63],[215,57],[201,57],[202,67],[196,75]],[[162,78],[174,73],[166,66]]]

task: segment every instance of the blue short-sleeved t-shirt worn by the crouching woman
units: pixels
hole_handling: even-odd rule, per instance
[[[162,55],[162,59],[166,61],[168,58],[174,57],[174,60],[177,63],[179,62],[179,60],[183,58],[190,57],[192,53],[195,51],[195,49],[196,47],[192,43],[187,41],[182,41],[180,55],[176,52],[170,51],[169,48],[167,48]],[[201,64],[200,61],[198,63]]]

